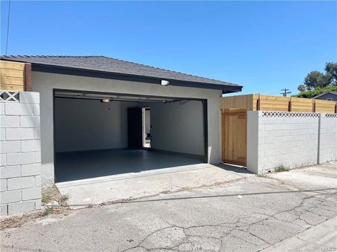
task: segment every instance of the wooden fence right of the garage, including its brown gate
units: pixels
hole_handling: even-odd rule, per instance
[[[246,111],[293,111],[337,113],[337,102],[297,97],[246,94],[220,98],[221,158],[223,162],[246,166]]]

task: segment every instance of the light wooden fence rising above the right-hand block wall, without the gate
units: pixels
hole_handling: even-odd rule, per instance
[[[337,102],[298,97],[246,94],[220,98],[220,109],[337,113]]]

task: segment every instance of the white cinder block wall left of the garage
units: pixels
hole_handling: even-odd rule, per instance
[[[1,216],[41,209],[39,93],[15,97],[0,99]]]

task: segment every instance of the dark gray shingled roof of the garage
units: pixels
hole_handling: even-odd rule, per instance
[[[32,63],[32,66],[53,66],[58,68],[78,69],[85,71],[100,71],[104,73],[114,73],[126,76],[136,76],[145,78],[156,78],[164,80],[173,80],[185,83],[200,83],[222,86],[223,90],[230,92],[239,92],[241,85],[227,83],[221,80],[213,80],[199,76],[192,76],[186,73],[179,73],[165,69],[159,69],[153,66],[127,62],[121,59],[114,59],[105,56],[1,56],[1,59],[12,60],[16,62]],[[34,67],[33,67],[34,70]],[[207,87],[206,87],[207,88]],[[222,89],[222,88],[216,88]]]

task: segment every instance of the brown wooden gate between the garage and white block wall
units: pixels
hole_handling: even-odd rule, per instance
[[[247,111],[223,109],[221,111],[221,143],[223,162],[246,166]]]

